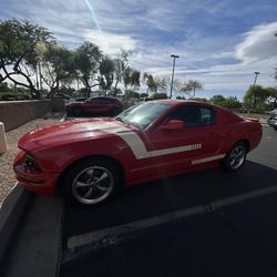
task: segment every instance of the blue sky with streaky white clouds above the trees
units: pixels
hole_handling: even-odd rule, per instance
[[[196,96],[242,99],[257,83],[276,86],[276,0],[1,0],[0,20],[27,19],[75,49],[84,41],[115,57],[132,51],[134,69],[198,80]]]

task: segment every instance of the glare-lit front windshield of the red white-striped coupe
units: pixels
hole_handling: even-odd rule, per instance
[[[170,106],[164,103],[146,102],[125,110],[115,120],[144,130]]]

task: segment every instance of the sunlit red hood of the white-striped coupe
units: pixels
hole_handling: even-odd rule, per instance
[[[34,151],[59,146],[71,142],[107,136],[111,133],[126,132],[131,126],[114,119],[74,120],[37,129],[19,140],[19,147]]]

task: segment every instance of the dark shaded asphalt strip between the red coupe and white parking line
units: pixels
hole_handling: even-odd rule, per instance
[[[275,186],[277,171],[246,162],[237,173],[218,170],[184,174],[125,188],[106,204],[65,204],[64,238],[163,215],[195,205]]]

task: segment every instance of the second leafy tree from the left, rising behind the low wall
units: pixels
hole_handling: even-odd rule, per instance
[[[72,83],[74,78],[74,57],[70,50],[50,44],[42,53],[42,79],[49,86],[49,98],[53,98],[60,85]]]

